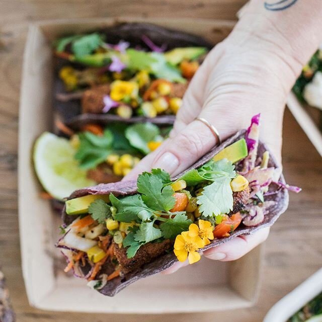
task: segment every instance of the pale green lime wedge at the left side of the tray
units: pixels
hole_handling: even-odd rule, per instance
[[[63,200],[74,190],[95,185],[78,168],[75,149],[65,138],[44,132],[35,142],[34,167],[43,188],[55,199]]]

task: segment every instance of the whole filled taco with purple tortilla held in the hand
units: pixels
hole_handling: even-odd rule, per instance
[[[259,115],[176,178],[160,169],[137,182],[77,190],[56,246],[65,271],[113,296],[134,281],[272,225],[288,205],[280,168],[259,141]]]

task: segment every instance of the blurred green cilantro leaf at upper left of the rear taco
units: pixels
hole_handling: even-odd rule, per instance
[[[84,35],[72,40],[71,49],[76,57],[82,57],[98,49],[102,42],[102,37],[98,33]]]

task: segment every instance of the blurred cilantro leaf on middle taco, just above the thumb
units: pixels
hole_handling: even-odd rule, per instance
[[[150,152],[147,143],[157,140],[159,134],[159,128],[152,123],[137,123],[125,130],[125,137],[129,140],[130,144],[144,154]]]

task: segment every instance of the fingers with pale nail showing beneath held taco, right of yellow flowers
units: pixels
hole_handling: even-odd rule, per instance
[[[203,252],[203,255],[211,260],[222,262],[235,261],[243,257],[268,237],[270,228],[263,228],[252,235],[241,235],[227,243]]]

